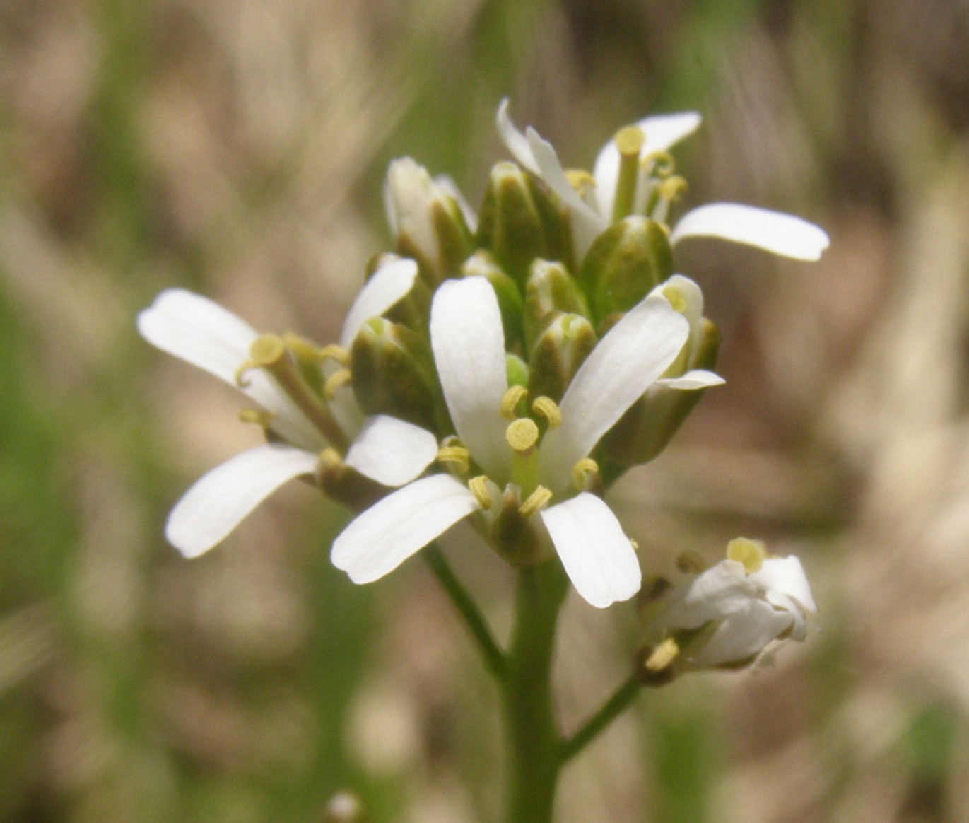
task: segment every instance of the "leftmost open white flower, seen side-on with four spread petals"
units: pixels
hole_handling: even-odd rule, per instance
[[[340,345],[346,349],[360,326],[386,312],[414,284],[417,266],[395,260],[378,269],[360,291],[347,316]],[[364,419],[348,386],[338,386],[318,404],[329,439],[312,411],[300,408],[261,368],[246,368],[260,334],[232,312],[182,289],[162,292],[138,316],[148,342],[240,389],[259,411],[270,442],[229,459],[205,474],[175,504],[166,536],[182,554],[195,557],[225,538],[266,496],[288,480],[313,475],[320,453],[345,448],[344,461],[385,486],[401,486],[420,475],[437,453],[434,435],[392,417]],[[336,370],[325,364],[322,368]],[[242,370],[244,369],[244,373]],[[321,379],[329,376],[326,371]],[[339,381],[337,381],[338,383]],[[332,442],[337,441],[337,442]]]

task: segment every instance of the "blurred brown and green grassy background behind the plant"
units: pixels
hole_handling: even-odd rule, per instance
[[[493,820],[496,692],[420,562],[328,563],[291,484],[194,562],[162,537],[247,445],[231,390],[153,351],[163,288],[334,339],[411,154],[472,203],[499,99],[591,164],[701,111],[689,205],[796,212],[819,264],[691,240],[728,383],[614,500],[663,568],[738,534],[804,561],[819,630],[644,693],[566,771],[563,823],[969,819],[965,0],[0,0],[0,819]],[[508,576],[450,554],[498,631]],[[575,728],[634,608],[567,604]]]

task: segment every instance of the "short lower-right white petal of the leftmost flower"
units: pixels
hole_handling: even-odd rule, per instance
[[[437,439],[425,428],[387,415],[367,418],[345,461],[384,486],[403,486],[437,457]]]

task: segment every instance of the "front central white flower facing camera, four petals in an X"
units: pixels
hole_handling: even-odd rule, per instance
[[[511,490],[527,498],[522,514],[547,530],[589,603],[602,608],[635,594],[641,586],[636,553],[602,498],[577,489],[574,469],[672,363],[689,334],[688,322],[660,296],[627,312],[579,367],[557,407],[559,425],[549,426],[537,446],[530,419],[510,425],[502,415],[509,392],[505,339],[485,278],[443,283],[430,332],[454,429],[485,478],[465,484],[435,474],[391,493],[336,539],[333,564],[356,583],[377,580],[453,523],[473,512],[487,518],[501,507],[502,492]]]

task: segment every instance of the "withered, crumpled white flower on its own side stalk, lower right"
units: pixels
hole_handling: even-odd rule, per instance
[[[681,649],[680,668],[745,665],[778,639],[802,641],[806,616],[817,612],[811,587],[794,555],[768,557],[759,541],[731,541],[721,560],[673,589],[653,618],[658,636],[705,627]]]

